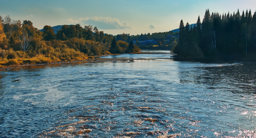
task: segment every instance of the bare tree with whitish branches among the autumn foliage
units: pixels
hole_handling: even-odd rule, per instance
[[[19,46],[23,52],[27,51],[30,48],[31,37],[28,35],[27,31],[23,30],[22,36],[19,36]]]

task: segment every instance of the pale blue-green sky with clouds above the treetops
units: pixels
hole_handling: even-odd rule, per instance
[[[179,28],[180,20],[193,24],[205,11],[256,10],[256,0],[0,0],[0,16],[30,20],[42,29],[45,25],[80,24],[96,26],[108,34],[147,34]]]

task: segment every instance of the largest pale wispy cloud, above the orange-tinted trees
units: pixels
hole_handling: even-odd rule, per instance
[[[98,29],[132,29],[126,22],[121,23],[119,19],[111,17],[91,17],[91,18],[80,18],[78,20],[68,19],[72,23],[83,23],[92,26],[96,26]]]

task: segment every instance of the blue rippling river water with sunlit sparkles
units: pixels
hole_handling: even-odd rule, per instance
[[[256,137],[255,63],[118,57],[0,71],[0,137]]]

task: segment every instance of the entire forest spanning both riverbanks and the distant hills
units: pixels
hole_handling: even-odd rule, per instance
[[[55,32],[54,32],[55,31]],[[140,41],[156,40],[156,45]],[[136,41],[136,45],[134,44]],[[140,45],[140,46],[139,46]],[[155,47],[157,46],[157,47]],[[106,54],[138,53],[142,49],[170,49],[177,57],[255,59],[256,11],[222,15],[206,10],[194,26],[180,21],[179,32],[111,35],[92,25],[63,25],[57,32],[45,25],[42,31],[29,20],[0,16],[0,67],[80,61]]]

